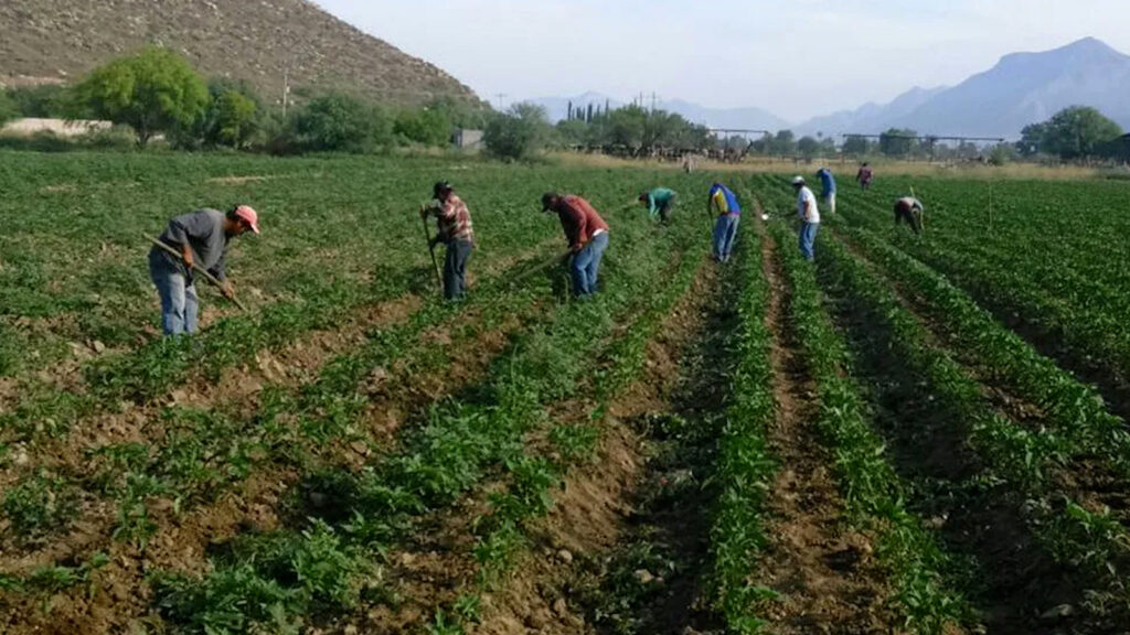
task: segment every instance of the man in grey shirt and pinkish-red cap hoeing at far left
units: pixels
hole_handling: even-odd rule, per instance
[[[149,277],[160,295],[160,325],[166,336],[194,333],[200,314],[192,267],[199,267],[220,281],[224,297],[234,298],[235,292],[225,272],[228,242],[244,232],[259,233],[259,215],[241,205],[226,214],[215,209],[199,209],[177,216],[158,240],[181,253],[171,253],[154,246],[149,250]]]

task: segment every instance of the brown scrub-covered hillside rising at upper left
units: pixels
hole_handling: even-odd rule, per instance
[[[478,101],[438,68],[306,0],[5,0],[0,84],[64,82],[147,44],[180,51],[207,77],[250,81],[266,101],[348,87],[384,103]]]

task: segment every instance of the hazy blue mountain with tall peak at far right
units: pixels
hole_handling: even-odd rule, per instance
[[[1025,125],[1072,105],[1096,107],[1130,128],[1130,55],[1093,37],[1051,51],[1012,53],[951,88],[915,88],[885,106],[867,105],[798,128],[826,133],[910,128],[1017,138]]]

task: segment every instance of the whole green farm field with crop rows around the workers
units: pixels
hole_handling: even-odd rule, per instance
[[[719,266],[711,177],[0,154],[0,632],[1124,633],[1130,184],[842,177],[808,263],[728,173]],[[611,226],[596,298],[546,190]],[[236,200],[250,311],[162,340],[144,235]]]

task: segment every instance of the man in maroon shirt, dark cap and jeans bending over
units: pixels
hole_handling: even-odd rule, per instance
[[[597,293],[600,259],[608,249],[608,224],[589,201],[573,194],[546,192],[541,211],[556,211],[568,241],[573,293],[585,297]]]

